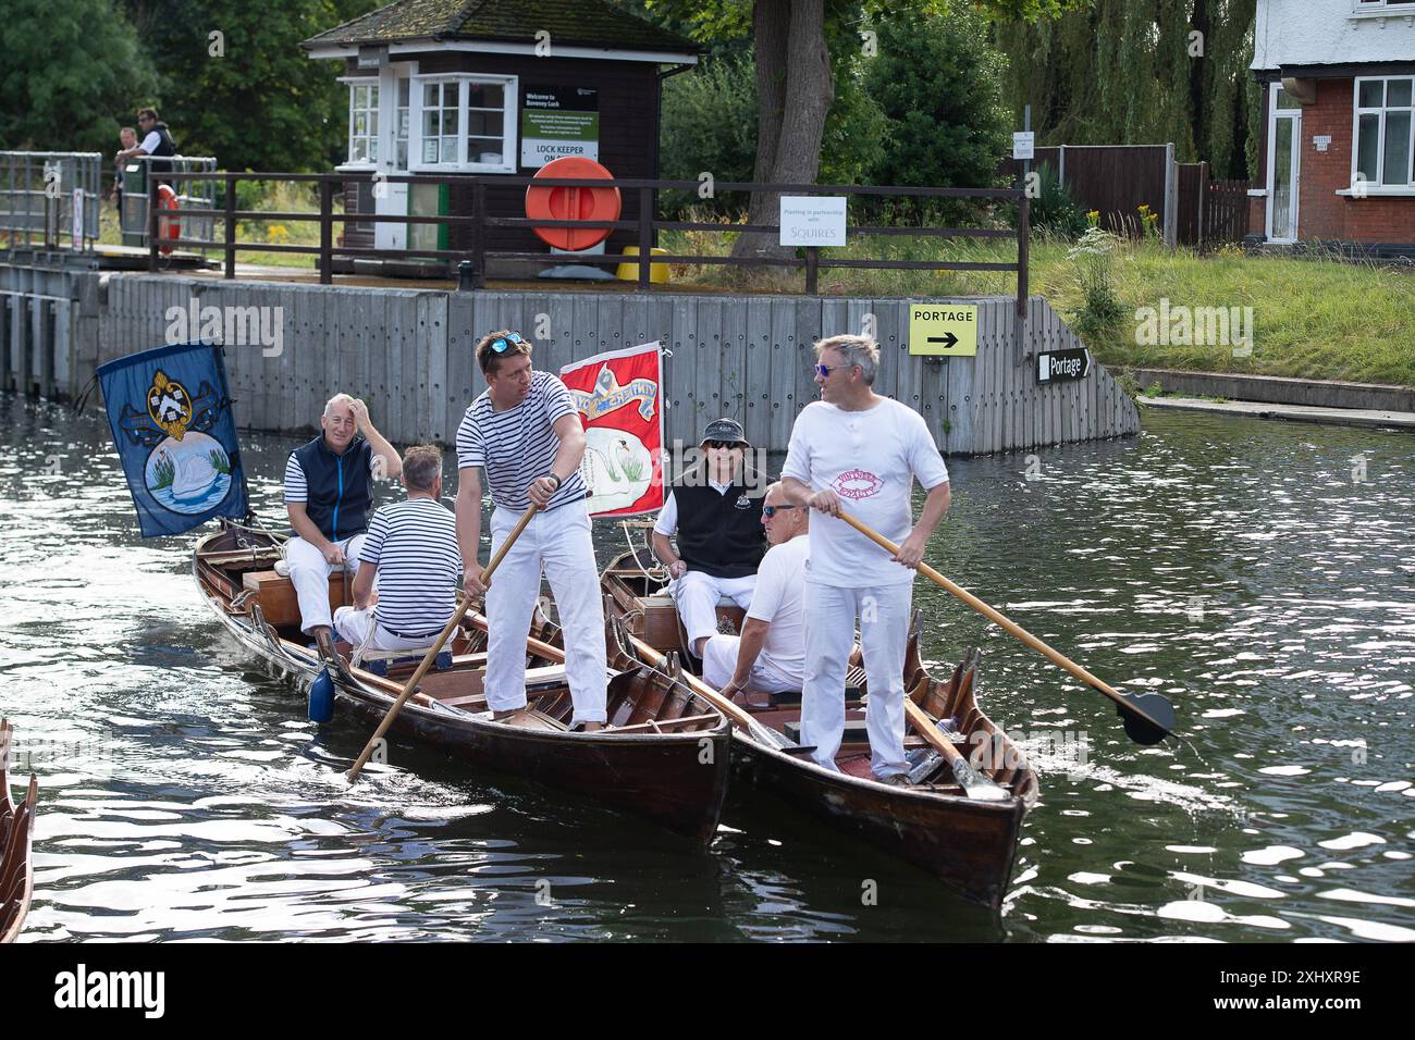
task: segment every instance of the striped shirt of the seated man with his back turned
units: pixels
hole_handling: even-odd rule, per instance
[[[385,505],[368,524],[359,565],[378,565],[374,617],[405,637],[436,635],[457,608],[457,518],[432,498]]]

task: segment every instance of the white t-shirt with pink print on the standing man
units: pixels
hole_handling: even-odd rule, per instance
[[[914,478],[932,490],[948,480],[948,467],[923,417],[891,398],[863,412],[814,400],[791,429],[781,475],[812,491],[833,490],[841,508],[899,543],[914,525]],[[814,512],[808,577],[838,589],[863,589],[906,584],[914,572],[845,521]]]

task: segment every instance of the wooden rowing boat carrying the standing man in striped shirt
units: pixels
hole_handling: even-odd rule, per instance
[[[299,631],[299,608],[287,577],[275,573],[279,548],[243,528],[198,542],[192,573],[208,606],[243,647],[301,685],[321,669],[317,651]],[[342,582],[331,579],[337,600]],[[293,616],[291,616],[293,608]],[[467,635],[451,644],[450,666],[430,671],[403,706],[392,733],[444,749],[477,765],[514,773],[641,816],[702,845],[712,840],[727,790],[730,736],[710,703],[640,668],[614,675],[610,726],[572,733],[573,709],[565,668],[528,642],[526,696],[535,729],[494,722],[483,679],[485,654]],[[333,675],[340,706],[374,723],[383,719],[422,659],[402,658],[386,675],[351,668],[348,644],[335,647]]]

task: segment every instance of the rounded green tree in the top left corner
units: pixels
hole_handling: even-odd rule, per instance
[[[112,0],[8,0],[0,18],[0,147],[119,149],[117,127],[156,83]]]

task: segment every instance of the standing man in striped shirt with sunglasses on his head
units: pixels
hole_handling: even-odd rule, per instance
[[[604,607],[590,542],[590,515],[580,477],[584,427],[570,392],[549,372],[531,368],[532,344],[518,333],[484,335],[475,347],[487,389],[457,429],[457,542],[463,587],[487,597],[487,705],[516,724],[526,705],[525,638],[541,593],[541,574],[565,632],[565,665],[574,699],[572,726],[597,730],[604,713]],[[481,475],[495,512],[492,556],[532,504],[539,511],[511,546],[491,580],[481,580]]]

